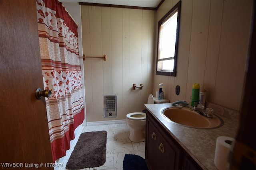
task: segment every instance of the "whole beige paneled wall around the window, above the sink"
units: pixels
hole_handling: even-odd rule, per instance
[[[156,20],[177,2],[165,0]],[[207,90],[206,100],[239,111],[251,14],[252,0],[182,0],[177,76],[154,75],[154,91],[164,83],[171,102],[190,101],[192,84],[197,82]]]

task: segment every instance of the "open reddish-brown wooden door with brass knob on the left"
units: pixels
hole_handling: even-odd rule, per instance
[[[38,87],[44,88],[36,1],[0,0],[0,169],[53,169],[45,167],[52,153]]]

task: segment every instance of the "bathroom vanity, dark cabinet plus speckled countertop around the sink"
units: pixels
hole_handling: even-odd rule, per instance
[[[160,114],[171,104],[145,105],[145,160],[150,170],[216,170],[214,154],[218,136],[234,137],[238,122],[220,116],[224,125],[196,129],[166,121]]]

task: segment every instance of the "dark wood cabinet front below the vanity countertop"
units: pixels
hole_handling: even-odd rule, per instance
[[[145,153],[148,168],[152,170],[202,169],[149,112],[146,118]]]

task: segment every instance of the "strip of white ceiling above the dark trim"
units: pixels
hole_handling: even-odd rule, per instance
[[[60,0],[61,2],[87,2],[122,6],[156,8],[162,0]]]

